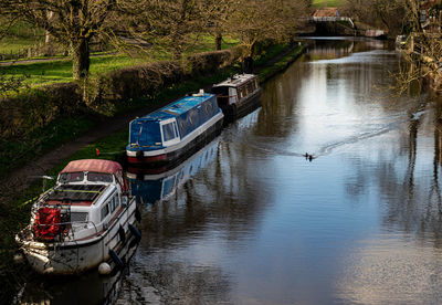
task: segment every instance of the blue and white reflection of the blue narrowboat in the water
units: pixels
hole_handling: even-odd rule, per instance
[[[162,168],[161,171],[129,167],[126,175],[131,194],[137,202],[144,204],[154,204],[169,198],[179,186],[214,160],[219,144],[220,137],[172,169]]]

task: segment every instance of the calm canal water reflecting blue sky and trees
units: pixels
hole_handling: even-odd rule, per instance
[[[144,236],[118,302],[441,304],[441,107],[393,95],[398,59],[318,40],[181,169],[131,179]]]

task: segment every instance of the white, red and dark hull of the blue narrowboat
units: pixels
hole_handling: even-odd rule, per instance
[[[186,160],[212,139],[222,130],[223,115],[220,114],[207,122],[200,128],[194,130],[180,144],[173,147],[167,147],[158,151],[126,151],[127,160],[133,166],[143,166],[147,168],[165,167],[171,168]],[[138,154],[137,154],[138,152]]]

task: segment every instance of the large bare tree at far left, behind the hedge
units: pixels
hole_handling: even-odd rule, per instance
[[[69,48],[75,80],[87,76],[91,40],[104,30],[106,18],[116,7],[117,0],[0,1],[2,14],[40,27]]]

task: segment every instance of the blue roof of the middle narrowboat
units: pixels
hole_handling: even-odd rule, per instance
[[[209,93],[200,93],[200,94],[193,94],[190,96],[185,96],[166,107],[162,107],[154,113],[150,113],[146,116],[137,118],[137,120],[140,119],[146,119],[146,120],[164,120],[172,117],[177,117],[183,113],[187,113],[188,111],[197,107],[201,103],[206,102],[207,99],[211,98],[214,96],[213,94]]]

